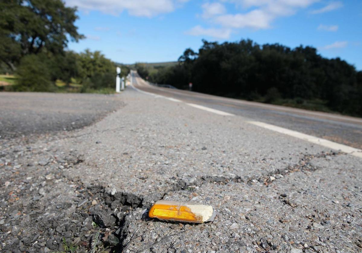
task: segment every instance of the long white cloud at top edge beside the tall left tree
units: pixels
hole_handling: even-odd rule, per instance
[[[89,12],[99,10],[106,14],[118,15],[127,10],[132,16],[153,17],[173,10],[188,0],[66,0],[68,6],[78,6]]]

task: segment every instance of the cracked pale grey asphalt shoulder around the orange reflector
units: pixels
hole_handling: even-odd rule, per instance
[[[122,107],[89,126],[0,140],[1,252],[361,252],[361,158],[131,87],[109,97]],[[159,199],[217,215],[147,218]]]

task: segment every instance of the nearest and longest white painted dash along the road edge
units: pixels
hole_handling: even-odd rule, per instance
[[[281,134],[293,136],[295,138],[306,140],[306,141],[309,141],[311,143],[321,145],[323,147],[327,147],[327,148],[331,148],[331,149],[335,149],[335,150],[340,150],[342,152],[352,154],[353,156],[357,156],[357,157],[362,158],[362,150],[361,149],[349,147],[347,145],[339,144],[339,143],[336,143],[336,142],[333,142],[333,141],[330,141],[330,140],[318,138],[318,137],[312,136],[312,135],[303,134],[303,133],[300,133],[300,132],[297,132],[297,131],[289,130],[287,128],[278,127],[278,126],[266,124],[266,123],[259,122],[259,121],[247,121],[247,122],[250,123],[250,124],[259,126],[259,127],[263,127],[263,128],[275,131],[275,132],[279,132]]]

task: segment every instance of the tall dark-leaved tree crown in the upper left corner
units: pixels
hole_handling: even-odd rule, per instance
[[[0,61],[14,70],[27,54],[63,53],[69,40],[84,38],[74,25],[76,10],[62,0],[2,0]]]

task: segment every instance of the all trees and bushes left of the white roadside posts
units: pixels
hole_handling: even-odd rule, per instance
[[[113,93],[116,66],[101,52],[76,53],[76,8],[61,0],[0,2],[0,91]]]

